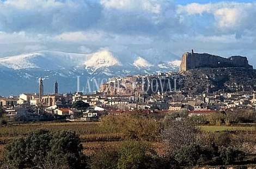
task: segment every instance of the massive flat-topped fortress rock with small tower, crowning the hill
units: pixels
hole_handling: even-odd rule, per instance
[[[224,58],[206,53],[194,53],[192,49],[191,53],[187,52],[182,55],[180,72],[200,68],[234,67],[253,69],[253,66],[249,65],[247,57],[245,56],[231,56],[229,58]]]

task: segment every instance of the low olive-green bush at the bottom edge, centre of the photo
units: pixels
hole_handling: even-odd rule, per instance
[[[123,141],[120,147],[106,148],[93,154],[93,169],[170,168],[170,160],[161,158],[148,142]]]

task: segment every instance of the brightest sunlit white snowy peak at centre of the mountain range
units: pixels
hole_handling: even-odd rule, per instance
[[[89,54],[89,59],[85,61],[84,64],[86,65],[86,68],[94,69],[121,65],[121,63],[108,50]]]

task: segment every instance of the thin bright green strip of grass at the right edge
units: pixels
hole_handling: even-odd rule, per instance
[[[199,126],[203,131],[222,132],[222,131],[255,131],[255,127],[245,126]]]

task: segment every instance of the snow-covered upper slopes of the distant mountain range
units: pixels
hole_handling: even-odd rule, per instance
[[[22,54],[11,57],[0,58],[0,68],[8,68],[13,70],[84,70],[86,73],[93,74],[95,72],[102,73],[106,69],[106,74],[143,69],[152,72],[155,70],[170,71],[180,64],[180,61],[164,61],[161,63],[148,62],[143,56],[135,57],[125,54],[113,54],[108,50],[97,51],[92,54],[74,54],[59,51],[38,51],[31,54]],[[121,62],[123,61],[123,62]],[[151,61],[151,60],[150,60]],[[107,70],[107,68],[109,68]],[[102,71],[100,71],[102,69]],[[150,70],[149,70],[150,69]],[[99,70],[99,71],[96,71]]]

